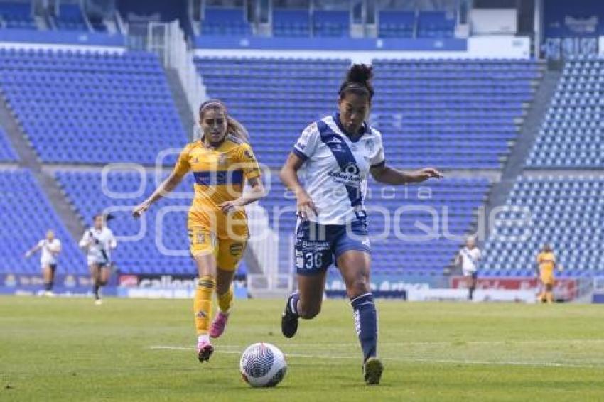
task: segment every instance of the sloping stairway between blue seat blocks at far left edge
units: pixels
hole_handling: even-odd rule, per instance
[[[0,96],[0,125],[6,131],[6,135],[9,136],[13,148],[19,156],[18,165],[31,170],[34,178],[36,178],[41,188],[43,188],[50,204],[57,212],[63,224],[65,224],[73,239],[80,239],[85,230],[84,223],[75,211],[72,210],[70,203],[53,176],[44,172],[41,161],[33,151],[33,146],[31,146],[31,143],[28,143],[21,126],[18,125],[6,104],[6,100],[2,96]]]

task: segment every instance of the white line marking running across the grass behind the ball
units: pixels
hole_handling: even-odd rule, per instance
[[[299,344],[302,346],[301,344]],[[222,347],[237,347],[239,350],[221,350]],[[183,346],[169,346],[169,345],[156,345],[151,346],[149,349],[153,350],[195,350],[195,347],[183,347]],[[236,345],[222,345],[216,349],[218,353],[224,354],[241,354],[242,347]],[[355,359],[360,360],[360,357],[355,356],[337,356],[333,354],[300,354],[300,353],[286,353],[286,357],[300,357],[303,359]],[[539,367],[567,367],[575,369],[601,369],[604,368],[598,364],[567,364],[567,363],[552,363],[552,362],[517,362],[517,361],[500,361],[500,362],[489,362],[486,360],[467,360],[467,359],[416,359],[416,358],[400,358],[400,357],[382,357],[382,360],[392,362],[419,362],[419,363],[446,363],[446,364],[481,364],[481,365],[497,365],[497,366],[539,366]]]

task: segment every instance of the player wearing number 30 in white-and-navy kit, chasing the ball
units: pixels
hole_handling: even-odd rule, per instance
[[[372,67],[353,65],[340,86],[338,112],[306,127],[281,169],[281,180],[296,195],[295,259],[298,290],[287,300],[281,331],[293,337],[298,318],[318,315],[327,268],[334,258],[352,304],[363,351],[367,384],[379,384],[377,313],[370,289],[370,241],[364,197],[369,173],[380,183],[420,183],[441,178],[433,168],[404,173],[389,168],[382,134],[365,122],[370,112]],[[306,165],[306,185],[298,170]]]

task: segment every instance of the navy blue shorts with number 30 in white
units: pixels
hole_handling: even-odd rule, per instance
[[[371,251],[367,221],[350,224],[318,224],[298,219],[294,245],[298,275],[324,272],[345,251]]]

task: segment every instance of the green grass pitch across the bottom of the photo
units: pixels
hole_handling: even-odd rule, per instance
[[[283,300],[237,300],[210,364],[189,300],[0,298],[0,401],[604,401],[604,306],[379,301],[384,376],[365,386],[350,305],[326,300],[293,339]],[[274,389],[239,353],[287,355]]]

